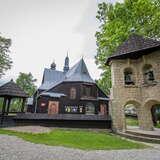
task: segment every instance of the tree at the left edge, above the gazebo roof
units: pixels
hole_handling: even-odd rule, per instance
[[[0,78],[4,75],[4,72],[11,68],[11,58],[8,53],[11,46],[11,39],[0,36]]]

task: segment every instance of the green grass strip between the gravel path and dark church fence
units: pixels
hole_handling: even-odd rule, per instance
[[[119,136],[86,130],[55,129],[49,133],[32,134],[0,129],[0,134],[15,135],[26,141],[51,146],[65,146],[87,150],[139,149],[147,146]]]

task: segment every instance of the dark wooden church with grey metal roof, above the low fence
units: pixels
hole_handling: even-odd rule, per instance
[[[108,114],[108,97],[91,78],[83,58],[69,68],[65,58],[63,71],[53,62],[45,68],[42,84],[28,111],[48,114]]]

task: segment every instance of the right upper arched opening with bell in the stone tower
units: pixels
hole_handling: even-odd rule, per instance
[[[143,67],[143,76],[144,76],[144,83],[153,82],[155,80],[152,65],[146,64]]]

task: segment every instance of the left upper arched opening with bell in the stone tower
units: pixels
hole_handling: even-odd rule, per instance
[[[131,68],[126,68],[124,70],[124,82],[126,85],[134,84],[133,81],[133,71]]]

